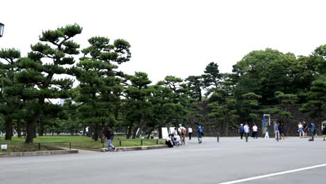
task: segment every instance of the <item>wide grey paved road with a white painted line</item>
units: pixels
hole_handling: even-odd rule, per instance
[[[316,139],[203,138],[178,148],[0,158],[0,183],[224,183],[325,164]],[[326,167],[243,183],[324,183]]]

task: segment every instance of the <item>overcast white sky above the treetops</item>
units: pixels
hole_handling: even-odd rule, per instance
[[[81,47],[91,36],[130,42],[124,72],[146,72],[154,82],[166,75],[184,79],[201,75],[212,61],[231,72],[255,49],[310,54],[326,44],[325,7],[322,0],[1,0],[0,48],[15,47],[26,56],[42,30],[77,23]]]

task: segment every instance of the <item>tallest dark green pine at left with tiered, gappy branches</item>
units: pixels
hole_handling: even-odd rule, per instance
[[[81,33],[77,24],[68,25],[56,30],[43,31],[40,43],[31,45],[29,59],[20,62],[20,71],[16,75],[17,82],[24,84],[22,94],[29,97],[26,108],[31,116],[27,120],[26,143],[33,142],[36,123],[40,123],[40,135],[43,125],[40,121],[45,102],[54,98],[69,98],[73,79],[60,75],[73,75],[67,67],[75,63],[74,55],[79,54],[79,45],[71,38]]]

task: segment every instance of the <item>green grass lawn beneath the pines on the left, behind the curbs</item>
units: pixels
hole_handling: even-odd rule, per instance
[[[0,139],[0,144],[4,144],[4,143],[24,143],[25,139],[24,138],[18,138],[18,137],[13,137],[13,139],[11,141],[7,141],[3,139],[4,137],[1,137]],[[113,144],[114,146],[117,147],[125,147],[125,146],[141,146],[141,140],[143,140],[143,146],[154,146],[156,145],[156,140],[157,139],[125,139],[125,137],[114,137],[114,141]],[[95,149],[95,150],[100,150],[100,148],[102,148],[102,143],[101,140],[98,139],[98,141],[94,141],[93,139],[91,139],[91,137],[83,137],[83,136],[44,136],[44,137],[37,137],[34,139],[34,143],[49,143],[49,142],[63,142],[66,141],[67,143],[58,143],[58,144],[53,144],[56,146],[69,146],[69,141],[71,142],[71,146],[72,148],[88,148],[88,149]],[[121,141],[121,146],[119,145]],[[159,139],[159,144],[165,144],[165,140],[164,139]],[[36,150],[38,151],[38,144],[34,144],[36,146]],[[52,145],[52,144],[51,144]],[[15,151],[16,149],[12,149],[12,147],[19,147],[17,145],[8,145],[8,150],[5,152],[10,151]],[[24,145],[26,146],[26,145]],[[29,146],[29,145],[27,145]],[[29,146],[28,149],[26,150],[32,150],[33,146]],[[45,144],[45,146],[41,147],[50,147],[49,144]],[[107,140],[105,140],[104,142],[104,147],[107,147]],[[18,149],[19,150],[19,149]],[[22,150],[24,151],[24,148],[22,148]],[[3,153],[3,151],[0,150],[0,153]]]

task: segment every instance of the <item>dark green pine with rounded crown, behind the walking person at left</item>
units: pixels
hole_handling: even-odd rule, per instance
[[[88,40],[90,47],[83,49],[84,56],[77,63],[79,114],[84,125],[89,125],[97,141],[104,126],[113,127],[116,123],[120,95],[123,91],[122,72],[117,64],[130,60],[130,44],[125,40],[109,43],[109,38],[93,37]]]

